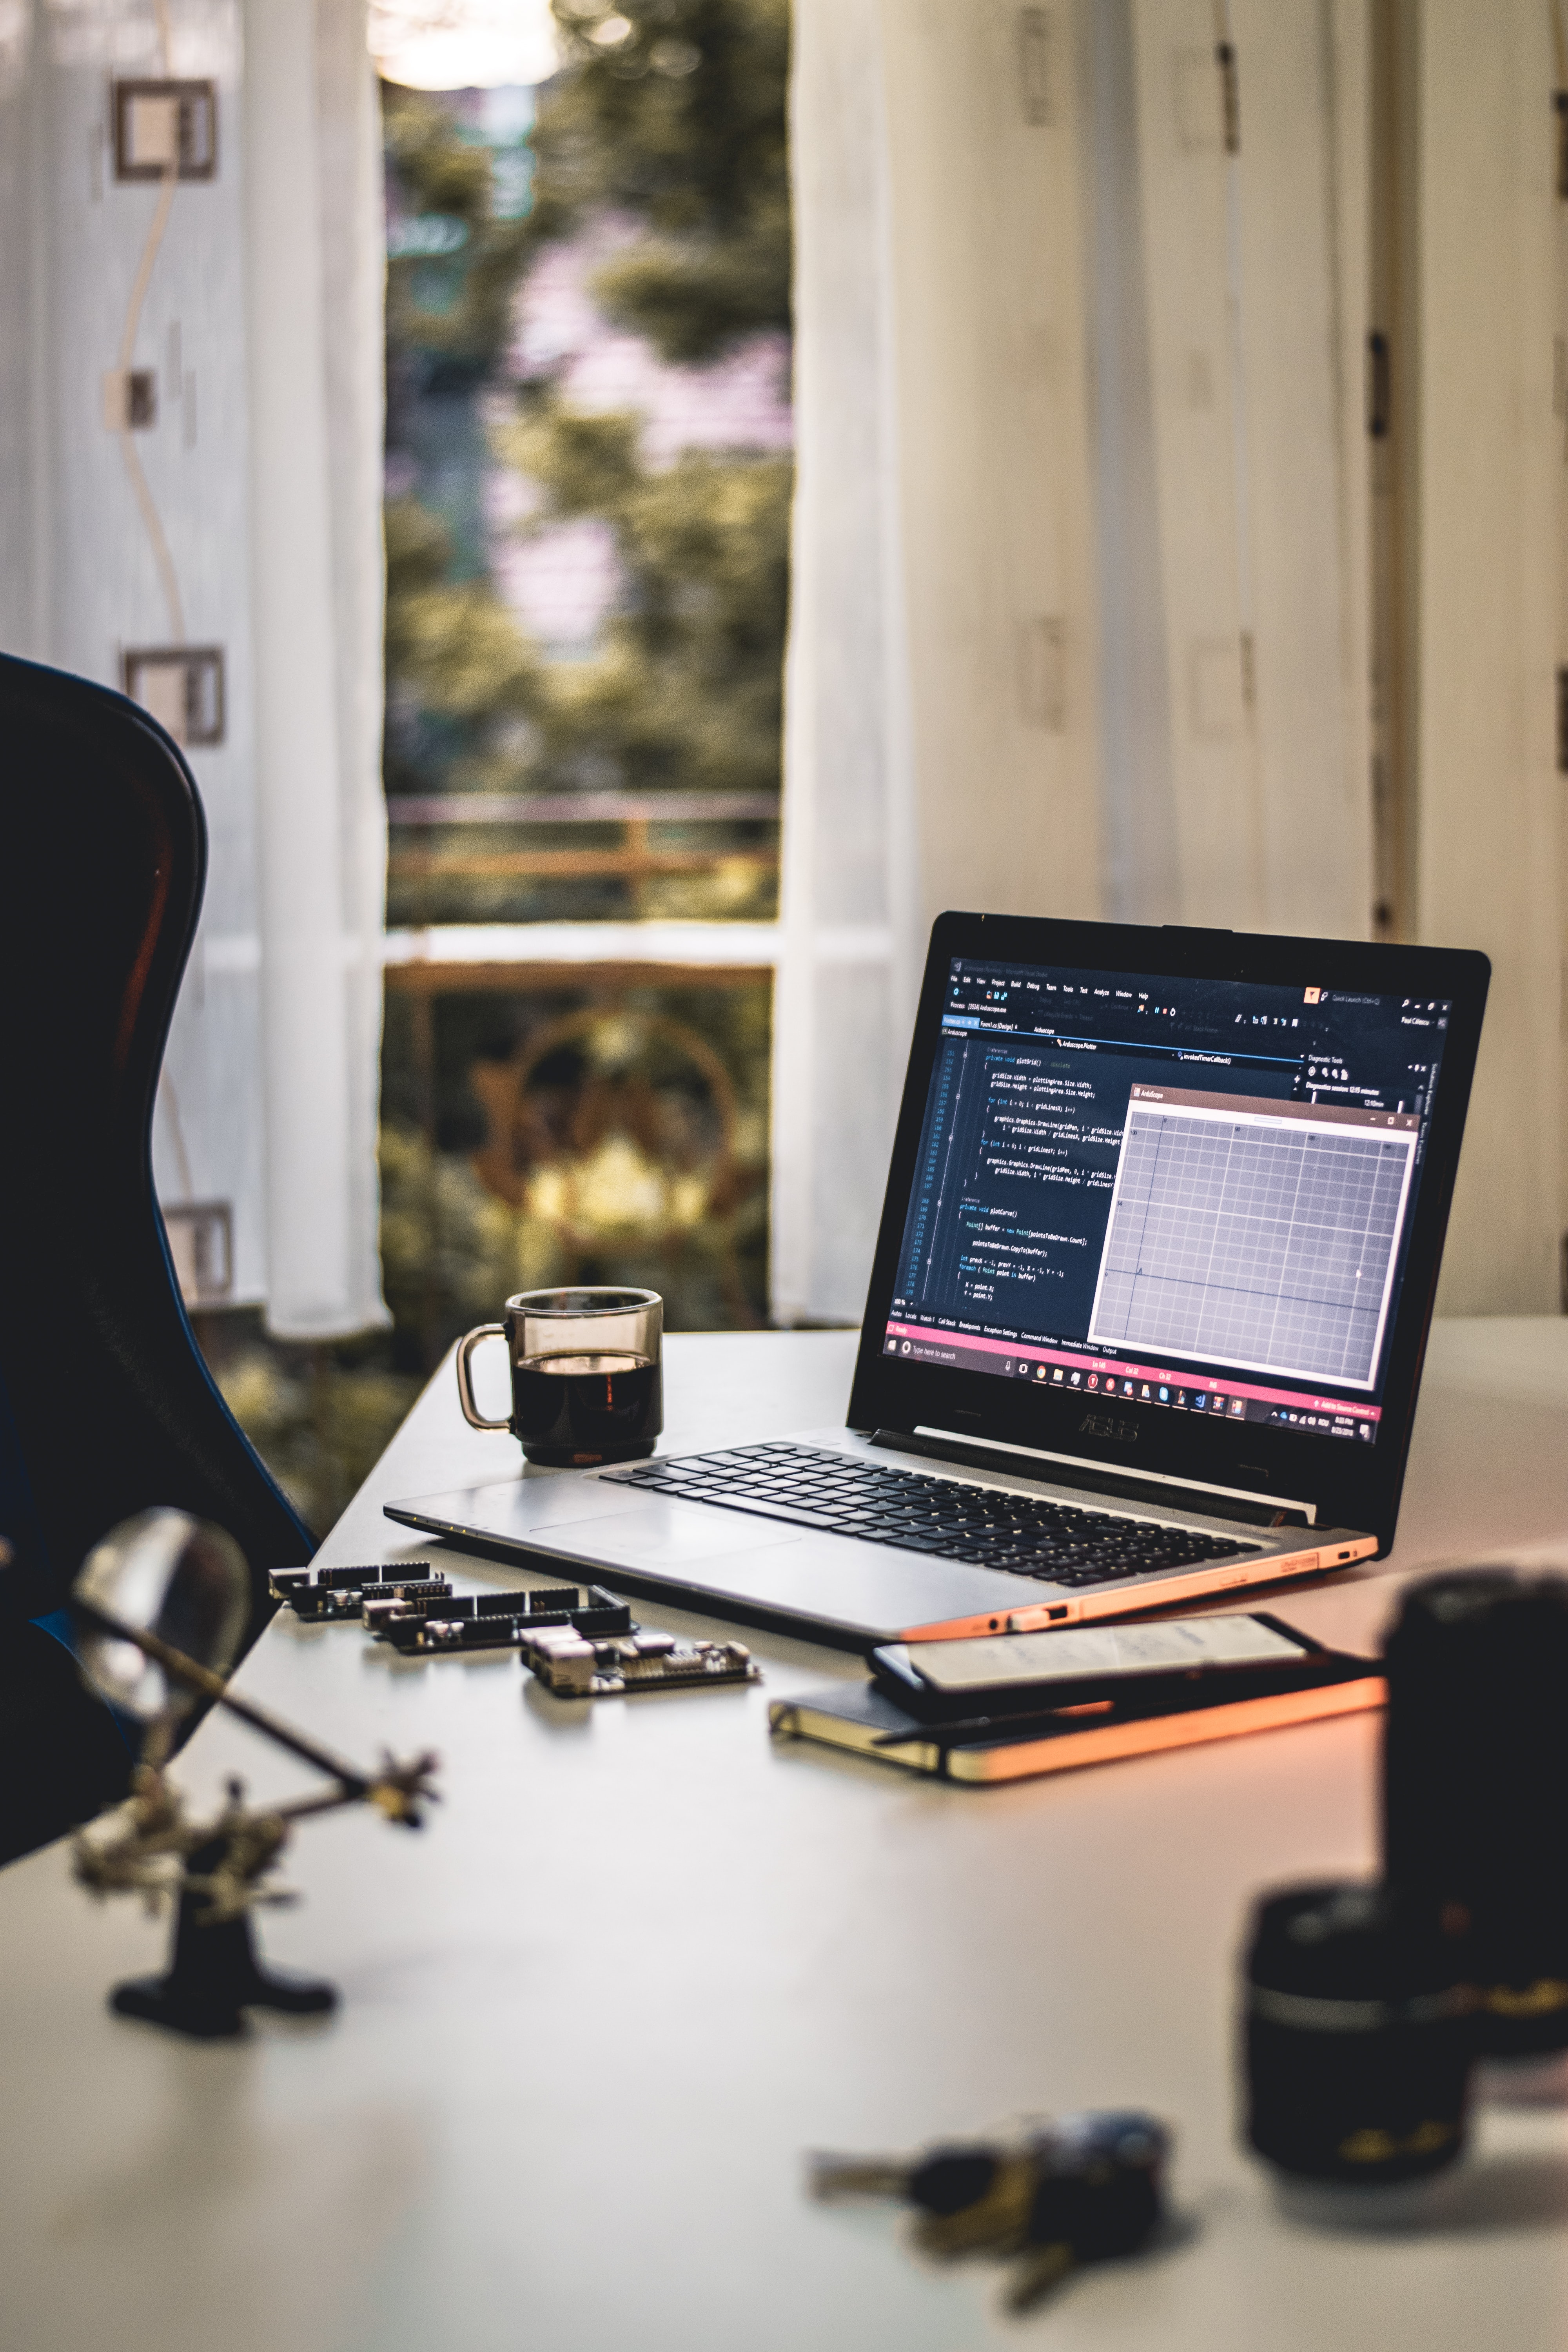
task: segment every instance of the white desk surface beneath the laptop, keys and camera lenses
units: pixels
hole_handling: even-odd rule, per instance
[[[849,1334],[668,1343],[668,1444],[832,1421]],[[381,1501],[517,1465],[442,1374],[322,1562],[414,1557]],[[1568,1536],[1568,1322],[1439,1327],[1399,1550],[1300,1597],[1366,1630],[1399,1569]],[[482,1581],[515,1581],[470,1562]],[[686,1628],[651,1604],[639,1618]],[[809,1745],[766,1700],[856,1663],[757,1635],[766,1689],[569,1705],[515,1658],[395,1663],[287,1613],[242,1670],[350,1755],[435,1745],[421,1835],[301,1832],[273,1957],[324,2023],[190,2046],[110,2018],[165,1926],[94,1907],[63,1846],[0,1875],[0,2343],[9,2352],[1561,2352],[1568,2117],[1486,2117],[1453,2218],[1286,2223],[1232,2119],[1255,1889],[1373,1865],[1378,1719],[1001,1790]],[[282,1795],[212,1719],[183,1764]],[[990,2265],[926,2270],[882,2206],[813,2206],[806,2147],[1020,2110],[1147,2105],[1180,2241],[1027,2321]]]

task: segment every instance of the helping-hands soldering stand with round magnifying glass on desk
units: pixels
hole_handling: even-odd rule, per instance
[[[230,1552],[233,1559],[226,1557]],[[153,1595],[146,1592],[148,1555]],[[143,2018],[202,2042],[244,2032],[247,2009],[280,2009],[294,2016],[336,2009],[334,1985],[292,1969],[270,1969],[254,1945],[254,1907],[294,1900],[292,1893],[266,1886],[292,1825],[343,1804],[374,1804],[388,1820],[416,1830],[421,1802],[435,1795],[433,1755],[409,1764],[395,1764],[388,1755],[378,1771],[360,1773],[263,1708],[237,1698],[221,1672],[190,1658],[155,1625],[136,1625],[120,1609],[106,1606],[106,1592],[153,1597],[153,1609],[141,1613],[183,1621],[181,1630],[190,1625],[205,1635],[202,1646],[223,1653],[233,1649],[223,1635],[237,1621],[237,1611],[221,1606],[223,1597],[214,1595],[214,1583],[221,1578],[233,1583],[235,1564],[242,1578],[240,1555],[221,1529],[197,1526],[183,1512],[143,1512],[94,1550],[75,1585],[85,1668],[99,1682],[108,1682],[118,1703],[148,1715],[132,1795],[78,1835],[75,1877],[96,1896],[136,1891],[153,1907],[167,1898],[176,1903],[174,1950],[165,1976],[129,1978],[115,1985],[108,2004],[120,2016]],[[242,1585],[237,1590],[242,1592]],[[129,1644],[136,1653],[134,1677],[125,1672],[129,1663],[125,1653],[115,1661],[120,1644]],[[155,1708],[146,1703],[148,1670],[150,1693],[162,1700]],[[186,1693],[214,1698],[254,1731],[327,1773],[336,1788],[322,1797],[256,1811],[242,1802],[242,1783],[230,1780],[228,1804],[212,1820],[193,1820],[165,1773],[174,1722],[190,1705]]]

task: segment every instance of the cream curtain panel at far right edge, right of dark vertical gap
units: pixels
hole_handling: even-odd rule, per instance
[[[1450,1315],[1559,1305],[1556,82],[1544,7],[1422,9],[1418,922],[1422,938],[1493,960],[1443,1263]]]

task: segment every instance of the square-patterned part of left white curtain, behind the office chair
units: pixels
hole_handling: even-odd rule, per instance
[[[240,0],[26,9],[0,73],[0,642],[108,687],[132,647],[221,649],[221,739],[186,753],[212,856],[153,1157],[165,1202],[228,1204],[233,1291],[263,1301],[242,59]],[[115,179],[110,125],[113,80],[162,75],[216,87],[216,172],[167,207]],[[106,423],[122,358],[153,412],[129,435]]]

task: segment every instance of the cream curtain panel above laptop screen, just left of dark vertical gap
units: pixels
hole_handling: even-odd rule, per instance
[[[1354,16],[1234,0],[1218,26],[1211,0],[1133,0],[1145,550],[1164,633],[1150,731],[1166,736],[1171,809],[1157,903],[1128,913],[1368,929],[1366,454],[1347,395],[1366,230],[1342,202],[1366,136]]]

